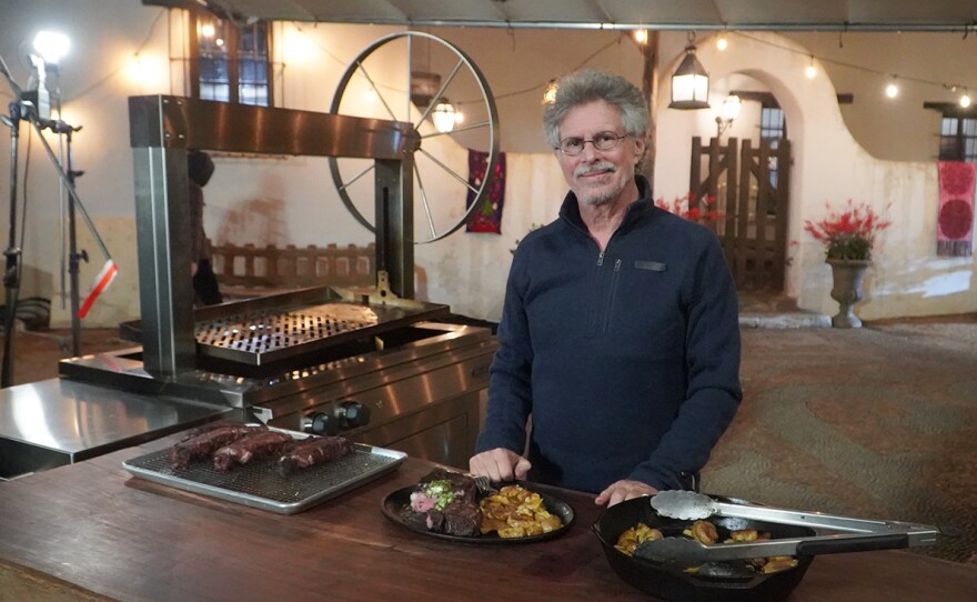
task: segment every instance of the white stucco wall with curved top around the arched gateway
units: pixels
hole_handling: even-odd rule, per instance
[[[809,58],[804,49],[774,33],[754,32],[751,37],[754,39],[738,37],[724,52],[705,41],[697,54],[709,66],[712,81],[717,82],[711,89],[713,107],[718,108],[726,96],[724,79],[738,73],[766,84],[785,111],[794,153],[788,240],[798,242],[789,251],[793,263],[787,270],[786,293],[797,298],[803,309],[837,312],[837,303],[829,297],[830,269],[824,263],[824,249],[803,231],[803,224],[826,217],[825,203],[840,208],[854,199],[869,203],[893,222],[878,238],[866,277],[866,299],[856,308],[863,319],[977,310],[974,259],[936,255],[936,162],[870,157],[846,128],[832,82],[823,76],[805,77]],[[772,46],[796,51],[770,52]],[[675,63],[662,71],[668,73],[674,68]],[[667,107],[669,94],[666,80],[659,106]],[[691,138],[697,134],[707,141],[715,136],[715,114],[714,110],[659,112],[657,195],[671,199],[687,192]],[[741,131],[738,136],[749,133]]]

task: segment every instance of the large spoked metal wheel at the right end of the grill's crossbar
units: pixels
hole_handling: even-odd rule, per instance
[[[400,67],[397,67],[400,66]],[[435,108],[447,100],[462,117],[451,131],[434,124]],[[346,69],[330,112],[411,123],[414,151],[415,243],[441,240],[484,208],[498,162],[498,116],[482,72],[461,50],[430,33],[403,31],[363,50]],[[486,177],[469,182],[469,152],[487,153]],[[375,232],[375,162],[330,158],[330,172],[346,209]],[[474,195],[473,202],[466,199]]]

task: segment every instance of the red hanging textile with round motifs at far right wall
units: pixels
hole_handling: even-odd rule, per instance
[[[970,257],[974,243],[975,164],[939,162],[939,214],[936,220],[936,254]]]

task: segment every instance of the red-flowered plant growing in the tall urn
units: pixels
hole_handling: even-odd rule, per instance
[[[826,219],[804,221],[804,230],[824,243],[825,257],[870,260],[875,234],[892,225],[892,222],[884,220],[867,203],[856,205],[852,199],[848,199],[847,211],[844,212],[832,209],[828,203],[825,207],[828,209]]]

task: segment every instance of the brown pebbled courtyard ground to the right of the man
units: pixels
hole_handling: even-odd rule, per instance
[[[977,323],[744,330],[744,402],[703,491],[948,528],[977,554]]]

